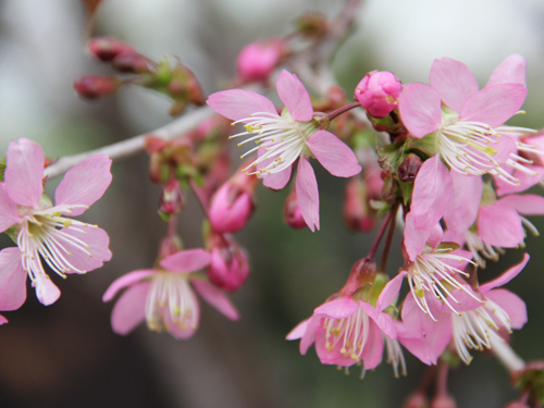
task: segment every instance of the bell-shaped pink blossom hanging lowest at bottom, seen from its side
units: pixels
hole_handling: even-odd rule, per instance
[[[313,316],[299,323],[286,338],[300,338],[302,355],[316,343],[316,351],[323,364],[349,367],[362,361],[364,370],[374,369],[380,363],[385,341],[388,361],[395,373],[398,374],[399,364],[405,372],[405,360],[396,341],[397,329],[385,312],[397,297],[405,274],[403,272],[387,282],[374,306],[369,298],[366,301],[360,298],[364,297],[364,290],[356,290],[349,296],[337,295],[318,307]]]

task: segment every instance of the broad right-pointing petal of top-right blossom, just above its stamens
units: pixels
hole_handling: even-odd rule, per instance
[[[472,95],[462,107],[462,122],[483,122],[491,127],[500,126],[519,111],[527,89],[519,84],[485,87]]]

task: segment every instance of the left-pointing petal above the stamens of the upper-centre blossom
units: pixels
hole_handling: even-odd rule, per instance
[[[270,99],[250,90],[228,89],[210,95],[206,101],[219,114],[232,121],[249,118],[257,112],[269,112],[277,115],[277,110]]]

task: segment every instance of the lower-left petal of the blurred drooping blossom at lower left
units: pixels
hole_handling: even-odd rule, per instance
[[[111,326],[122,336],[131,333],[146,319],[146,298],[150,282],[140,282],[125,290],[111,312]]]

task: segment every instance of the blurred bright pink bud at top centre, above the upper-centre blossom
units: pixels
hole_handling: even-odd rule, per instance
[[[284,54],[285,44],[281,39],[251,42],[238,54],[238,74],[244,82],[264,81]]]

